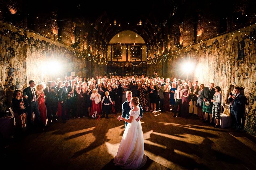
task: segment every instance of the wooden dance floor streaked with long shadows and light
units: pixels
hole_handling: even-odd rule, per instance
[[[146,112],[141,123],[148,159],[142,169],[256,168],[255,138],[246,133],[215,129],[195,117],[173,118],[173,112]],[[124,128],[113,114],[57,122],[10,143],[5,160],[26,169],[120,169],[113,158]]]

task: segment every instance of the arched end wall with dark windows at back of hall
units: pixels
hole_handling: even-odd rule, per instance
[[[147,72],[146,43],[134,31],[121,31],[109,42],[107,61],[110,64],[107,66],[108,74],[121,76],[145,74]]]

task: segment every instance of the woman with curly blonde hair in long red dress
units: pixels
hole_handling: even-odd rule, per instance
[[[40,117],[43,122],[43,124],[46,124],[46,107],[45,107],[45,94],[43,92],[43,89],[45,89],[45,86],[43,84],[37,84],[35,87],[36,95],[37,95],[37,102],[38,102],[38,108],[40,111]]]

